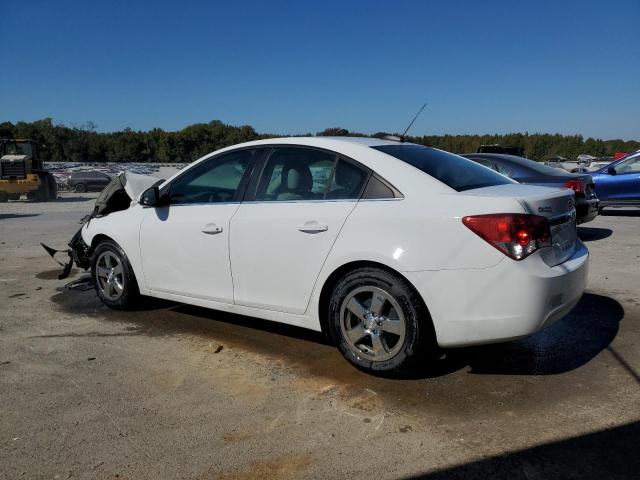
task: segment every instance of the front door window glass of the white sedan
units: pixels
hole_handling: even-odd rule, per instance
[[[170,186],[171,203],[220,203],[238,200],[257,150],[223,154],[187,170]]]

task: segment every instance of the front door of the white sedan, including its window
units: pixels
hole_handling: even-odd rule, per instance
[[[177,177],[148,208],[140,228],[147,288],[233,303],[229,222],[240,206],[257,150],[212,157]]]

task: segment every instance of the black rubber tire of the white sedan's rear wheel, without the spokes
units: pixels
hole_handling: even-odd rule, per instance
[[[387,337],[387,340],[384,340],[382,356],[393,356],[391,358],[382,358],[380,361],[371,358],[372,356],[376,356],[372,352],[366,353],[359,351],[359,349],[369,348],[364,345],[364,341],[367,338],[366,336],[362,337],[363,343],[357,345],[357,342],[350,342],[346,335],[347,328],[343,327],[345,321],[351,322],[354,319],[356,323],[361,321],[361,318],[357,315],[354,316],[350,314],[350,309],[346,308],[345,303],[347,303],[347,300],[349,303],[354,300],[357,292],[362,291],[362,295],[366,295],[368,289],[384,292],[384,294],[388,296],[389,318],[387,321],[393,317],[399,319],[404,324],[402,336],[396,336],[396,334],[390,335],[391,344],[393,344],[393,340],[396,339],[395,345],[390,347],[388,342],[389,337]],[[373,295],[375,296],[377,294],[373,293]],[[378,300],[380,300],[380,297]],[[369,312],[368,309],[372,307],[373,301],[372,297],[371,303],[368,306],[366,305],[366,300],[364,300],[361,305],[366,306],[366,311]],[[395,312],[396,307],[393,307],[391,302],[395,302],[394,304],[400,309],[400,312]],[[393,315],[391,315],[391,309],[393,309]],[[386,270],[366,267],[353,270],[346,274],[337,282],[333,289],[329,300],[328,313],[329,329],[334,343],[347,360],[361,369],[396,376],[411,371],[419,362],[428,360],[428,355],[435,353],[437,350],[431,318],[422,300],[406,280]],[[369,314],[370,313],[371,312],[369,312]],[[345,317],[343,317],[343,315],[345,315]],[[345,320],[347,317],[350,319]],[[368,317],[368,321],[371,321],[371,317]],[[362,326],[364,326],[365,323],[366,321],[362,321]],[[382,328],[382,330],[384,330],[384,328]],[[382,330],[378,331],[379,335],[377,336],[379,338],[380,335],[387,335],[385,332],[382,332]],[[364,331],[368,332],[370,330]],[[376,330],[374,330],[374,332],[375,331]],[[369,339],[373,340],[373,334],[369,334]],[[371,343],[373,343],[373,341]],[[396,351],[396,353],[394,353],[394,351]]]

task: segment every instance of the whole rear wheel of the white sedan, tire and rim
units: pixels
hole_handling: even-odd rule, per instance
[[[345,275],[329,303],[331,335],[357,367],[403,373],[435,348],[428,312],[399,275],[360,268]]]

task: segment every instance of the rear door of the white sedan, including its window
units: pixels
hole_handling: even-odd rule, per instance
[[[274,148],[231,221],[235,303],[304,313],[369,174],[333,152]]]

